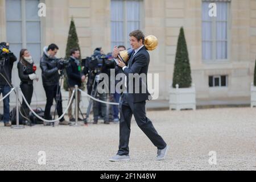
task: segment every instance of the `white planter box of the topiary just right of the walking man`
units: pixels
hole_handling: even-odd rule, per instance
[[[170,110],[176,109],[193,109],[196,110],[196,89],[195,85],[192,84],[191,88],[170,88]]]

